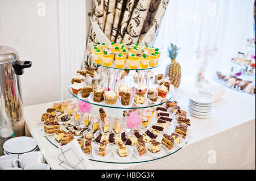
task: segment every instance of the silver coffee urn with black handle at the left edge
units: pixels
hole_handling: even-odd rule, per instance
[[[20,75],[31,61],[20,61],[18,52],[0,45],[0,141],[24,136],[24,118]]]

